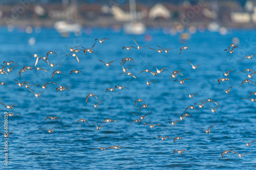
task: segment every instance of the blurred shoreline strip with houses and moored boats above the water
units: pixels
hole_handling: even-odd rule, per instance
[[[143,34],[147,27],[165,28],[176,34],[184,28],[220,31],[253,28],[256,1],[142,1],[142,0],[2,0],[0,25],[14,27],[54,27],[63,36],[83,31],[84,27],[111,27],[127,34]]]

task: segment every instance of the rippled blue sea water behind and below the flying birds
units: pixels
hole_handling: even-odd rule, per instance
[[[54,29],[42,29],[41,32],[27,34],[23,30],[15,29],[9,33],[6,28],[0,29],[1,33],[1,63],[4,61],[15,61],[19,65],[8,72],[10,76],[1,75],[1,82],[7,86],[0,86],[0,101],[4,104],[17,104],[13,109],[7,109],[0,105],[1,115],[4,112],[20,113],[13,117],[8,117],[8,131],[13,131],[8,140],[8,167],[4,165],[4,136],[2,135],[1,162],[0,169],[255,169],[256,168],[256,142],[252,142],[250,147],[241,139],[250,142],[256,137],[256,115],[255,103],[249,98],[250,92],[254,92],[256,86],[252,83],[240,84],[247,78],[247,74],[241,72],[244,69],[256,69],[253,59],[238,60],[248,55],[255,54],[256,35],[255,31],[233,30],[227,35],[219,33],[204,32],[191,35],[191,39],[181,42],[179,34],[172,36],[166,35],[161,29],[148,29],[145,35],[151,35],[152,39],[145,40],[145,35],[135,36],[141,46],[150,45],[152,48],[176,47],[169,53],[157,53],[147,47],[131,51],[123,46],[136,44],[133,36],[125,35],[122,31],[114,32],[111,29],[92,29],[91,34],[70,37],[61,37]],[[28,41],[34,37],[36,42],[29,45]],[[84,55],[77,53],[80,63],[71,55],[68,46],[82,45],[90,48],[94,44],[95,38],[110,38],[104,40],[104,43],[96,42],[94,53]],[[224,51],[232,43],[232,38],[239,38],[240,48],[234,50],[234,54]],[[189,46],[190,49],[183,50],[179,55],[180,47]],[[81,47],[78,47],[81,48]],[[37,54],[39,57],[46,56],[49,51],[55,54],[49,55],[51,63],[58,63],[55,67],[49,67],[42,60],[38,67],[42,67],[48,72],[42,70],[27,70],[18,77],[18,71],[24,66],[34,66],[35,58],[31,55]],[[135,60],[135,66],[129,68],[137,79],[122,73],[122,67],[119,64],[123,58],[131,57]],[[28,60],[27,60],[28,59]],[[110,67],[99,61],[110,62]],[[198,69],[192,69],[188,60]],[[15,65],[15,64],[14,64]],[[12,66],[14,66],[12,65]],[[124,67],[132,66],[133,62],[126,61]],[[151,73],[143,72],[144,69],[155,71],[157,68],[164,68],[164,72],[153,76]],[[10,68],[11,66],[7,66]],[[81,70],[85,75],[70,74],[71,70]],[[184,75],[178,75],[176,79],[185,80],[185,84],[177,81],[170,81],[171,75],[168,71],[183,69]],[[229,81],[218,84],[218,79],[225,77],[222,71],[230,72],[228,77],[233,84],[230,93],[216,89],[228,89],[232,84]],[[53,71],[61,70],[62,74],[56,74],[51,78]],[[167,71],[168,70],[168,71]],[[221,71],[222,70],[222,71]],[[146,81],[153,82],[150,86]],[[40,86],[30,86],[36,93],[45,91],[36,98],[29,89],[19,87],[14,79],[19,82],[30,82],[30,84],[44,85],[47,82],[55,83],[68,87],[70,91],[56,91],[57,85],[50,83],[47,89]],[[253,82],[255,78],[250,79]],[[106,88],[114,88],[116,85],[125,86],[116,91],[105,92]],[[188,98],[188,93],[200,93],[194,98]],[[86,97],[89,93],[94,93],[99,100],[104,100],[94,108],[98,100],[90,97],[86,104]],[[143,102],[134,102],[137,99],[143,99],[150,108],[138,110]],[[250,98],[255,98],[254,94]],[[212,99],[220,106],[216,113],[212,113],[210,107],[216,105],[205,103],[204,108],[199,108],[195,103],[204,99]],[[92,103],[90,103],[92,102]],[[178,122],[173,126],[168,119],[179,120],[175,113],[182,114],[188,107],[194,105],[196,110],[188,109],[186,113],[193,116],[185,117],[183,122]],[[208,106],[207,106],[208,105]],[[152,111],[152,112],[151,112]],[[148,124],[161,124],[151,129],[149,126],[143,126],[143,123],[133,123],[133,120],[139,119],[134,113],[144,115],[144,122]],[[58,116],[60,120],[50,120],[47,116]],[[84,118],[87,123],[78,122],[78,119]],[[99,125],[104,119],[111,118],[118,122],[103,123],[106,125],[99,131],[90,122]],[[208,129],[211,125],[216,125],[206,134],[203,129]],[[74,125],[75,124],[75,125]],[[50,134],[41,129],[53,129]],[[200,127],[200,128],[199,128]],[[1,132],[4,131],[4,117],[0,120]],[[158,136],[170,136],[162,141]],[[184,140],[173,138],[181,136]],[[120,145],[125,148],[106,149],[105,151],[91,150],[101,147],[111,147]],[[187,150],[183,154],[173,152],[175,150]],[[224,154],[221,159],[221,153],[224,150],[233,150],[244,154],[242,158],[237,154],[229,152]]]

